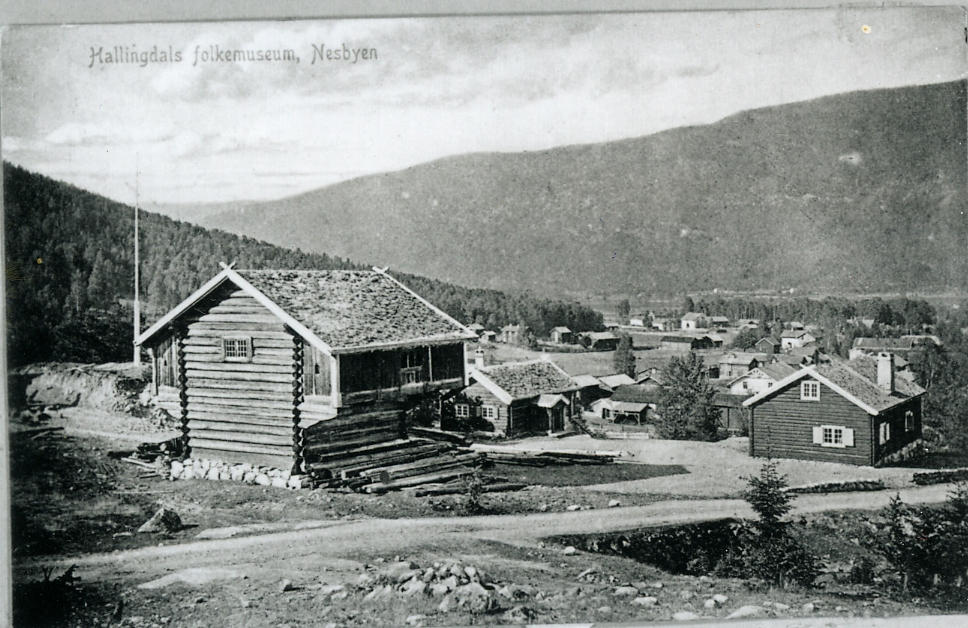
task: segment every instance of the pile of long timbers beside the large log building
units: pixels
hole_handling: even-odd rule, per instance
[[[318,486],[367,493],[410,489],[474,474],[486,455],[454,443],[398,439],[359,447],[318,443],[306,447],[306,468]]]

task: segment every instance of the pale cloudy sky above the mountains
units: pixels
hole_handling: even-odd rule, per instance
[[[963,79],[964,28],[960,7],[8,27],[0,147],[126,203],[269,200]]]

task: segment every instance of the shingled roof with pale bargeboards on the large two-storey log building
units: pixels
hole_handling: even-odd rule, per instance
[[[385,272],[226,268],[142,334],[138,343],[226,281],[249,292],[296,333],[327,351],[474,337]]]

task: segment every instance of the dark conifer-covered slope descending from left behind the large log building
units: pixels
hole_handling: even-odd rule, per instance
[[[3,175],[11,366],[130,359],[133,208],[7,163]],[[147,212],[140,227],[146,325],[215,275],[219,262],[234,261],[237,268],[367,268]],[[577,304],[392,274],[464,323],[494,328],[524,322],[539,335],[556,325],[602,328],[600,314]]]

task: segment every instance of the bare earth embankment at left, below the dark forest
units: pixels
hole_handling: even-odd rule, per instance
[[[139,414],[139,395],[150,383],[146,366],[132,364],[32,364],[11,371],[14,408],[79,406],[104,412]]]

